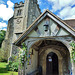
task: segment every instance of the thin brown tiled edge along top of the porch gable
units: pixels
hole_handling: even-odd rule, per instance
[[[60,19],[58,16],[56,16],[55,14],[53,14],[51,11],[49,11],[48,9],[45,10],[24,32],[23,34],[14,41],[14,44],[46,13],[50,13],[52,16],[54,16],[56,19],[58,19],[59,21],[61,21],[63,24],[65,24],[67,27],[69,27],[72,31],[75,32],[75,29],[73,29],[71,26],[69,26],[66,22],[64,22],[62,19]]]

